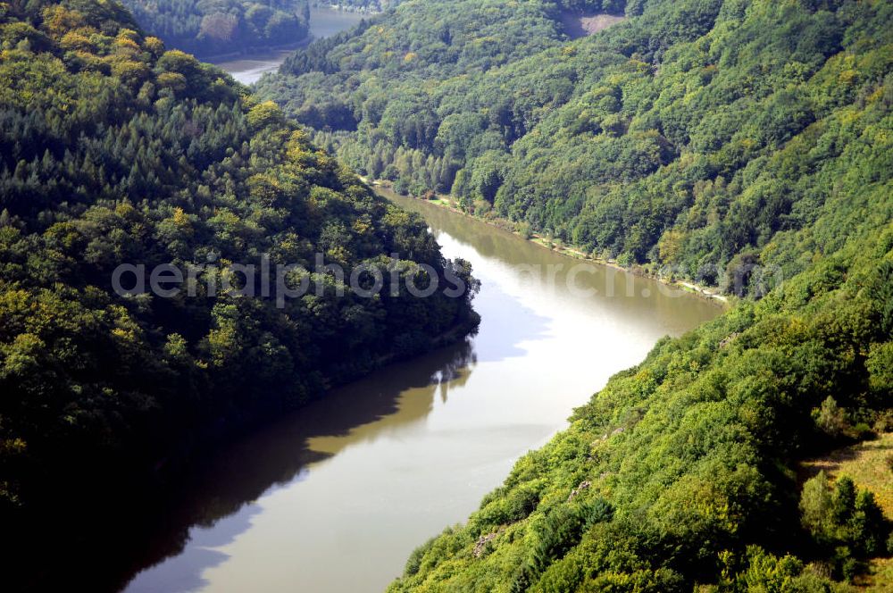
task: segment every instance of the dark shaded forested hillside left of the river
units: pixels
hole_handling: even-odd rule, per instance
[[[146,37],[119,4],[0,4],[0,46],[10,572],[26,536],[87,515],[100,486],[476,323],[468,264],[445,261],[420,218],[371,193],[276,105]],[[401,281],[363,298],[314,271],[317,253],[348,273],[388,266]],[[228,264],[263,266],[263,255],[313,271],[316,288],[281,303],[260,285],[241,297],[263,279],[224,279]],[[195,296],[121,296],[121,263],[194,264]],[[411,296],[403,280],[427,286],[421,264],[470,289]],[[54,539],[66,535],[55,523]]]

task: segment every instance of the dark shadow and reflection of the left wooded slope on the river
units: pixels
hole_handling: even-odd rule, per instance
[[[363,425],[385,430],[419,422],[430,413],[434,397],[446,401],[448,390],[467,380],[475,362],[472,340],[466,339],[392,364],[224,447],[171,496],[177,505],[149,535],[151,547],[129,570],[133,580],[127,585],[121,580],[120,586],[154,591],[164,582],[176,583],[177,590],[200,589],[206,584],[202,573],[228,557],[210,548],[229,544],[251,526],[260,512],[254,505],[259,497],[304,480],[311,465],[338,455],[338,450],[315,450],[313,438],[338,437],[340,449],[374,438],[374,431],[355,433]],[[412,397],[401,403],[408,391]],[[171,556],[176,558],[164,562]],[[137,573],[153,566],[151,579],[141,580],[146,573]]]

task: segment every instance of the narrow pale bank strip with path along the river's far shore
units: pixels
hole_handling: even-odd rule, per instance
[[[386,188],[389,191],[394,191],[394,184],[389,180],[369,180],[364,177],[360,177],[365,183],[371,185],[372,187],[380,187]],[[720,294],[714,288],[707,288],[705,286],[701,286],[694,282],[689,282],[687,280],[672,280],[663,278],[658,274],[655,274],[651,271],[646,270],[641,266],[632,266],[626,267],[617,263],[616,260],[613,259],[605,259],[603,257],[597,257],[591,254],[587,254],[582,251],[579,246],[567,246],[563,244],[555,243],[555,241],[550,238],[544,237],[543,235],[535,232],[531,232],[530,235],[522,233],[516,228],[516,225],[512,221],[505,220],[504,218],[500,218],[497,216],[491,216],[488,218],[475,216],[472,213],[467,213],[463,211],[461,208],[455,205],[455,200],[452,196],[446,196],[443,194],[431,193],[434,196],[434,199],[427,199],[420,196],[413,196],[414,199],[423,200],[428,202],[429,204],[437,205],[441,208],[446,208],[450,212],[461,214],[468,218],[472,218],[476,221],[484,222],[490,226],[496,227],[497,229],[506,230],[508,232],[517,235],[520,238],[526,239],[533,243],[534,245],[540,246],[544,249],[548,249],[558,255],[563,255],[565,257],[571,257],[577,260],[583,260],[591,263],[597,263],[599,265],[604,265],[609,268],[613,268],[615,270],[626,271],[631,274],[635,274],[637,276],[642,276],[645,278],[650,278],[652,280],[656,280],[661,282],[666,286],[671,286],[673,288],[679,288],[680,290],[684,290],[689,292],[695,296],[699,296],[704,298],[705,300],[714,303],[715,305],[720,305],[723,307],[729,306],[731,304],[731,297]]]

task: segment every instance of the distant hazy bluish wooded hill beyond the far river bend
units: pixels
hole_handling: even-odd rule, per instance
[[[296,44],[310,33],[306,0],[121,0],[147,34],[190,54]]]

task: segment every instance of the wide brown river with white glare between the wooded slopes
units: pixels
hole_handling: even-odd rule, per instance
[[[179,533],[154,543],[173,555],[128,591],[380,591],[414,547],[462,522],[610,375],[663,335],[720,312],[653,280],[388,197],[425,217],[445,255],[472,262],[479,333],[221,451],[183,497]]]

